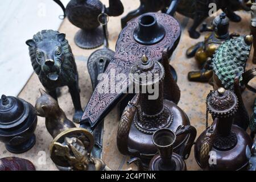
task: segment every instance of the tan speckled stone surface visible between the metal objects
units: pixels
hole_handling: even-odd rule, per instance
[[[106,0],[102,2],[108,4],[108,1]],[[115,47],[115,42],[118,38],[118,34],[121,31],[120,18],[127,14],[127,12],[130,10],[133,10],[139,6],[138,0],[123,0],[122,2],[125,6],[125,13],[118,17],[111,17],[108,25],[110,35],[110,48],[113,50]],[[250,14],[243,12],[240,12],[239,14],[242,16],[243,20],[242,22],[236,24],[230,23],[230,32],[238,32],[242,35],[249,34]],[[181,90],[179,106],[185,111],[185,113],[187,113],[191,121],[191,125],[196,127],[198,137],[205,129],[205,98],[207,97],[207,94],[209,93],[209,90],[212,89],[212,87],[207,83],[189,82],[187,80],[187,73],[192,70],[197,70],[198,68],[193,58],[187,59],[185,57],[185,51],[189,46],[192,46],[199,40],[204,40],[205,34],[203,34],[200,39],[197,40],[189,38],[187,28],[191,26],[192,20],[184,18],[184,16],[178,14],[176,15],[176,18],[179,20],[181,27],[183,28],[183,32],[179,46],[177,46],[174,55],[171,57],[170,64],[176,69],[178,75],[177,83]],[[209,21],[210,18],[207,20],[207,22]],[[73,53],[76,57],[76,63],[80,77],[79,85],[81,88],[81,102],[82,106],[85,106],[90,98],[90,95],[92,94],[92,85],[86,68],[86,60],[90,53],[95,51],[95,49],[85,50],[75,45],[73,37],[75,36],[77,30],[79,29],[69,23],[67,19],[64,20],[60,27],[60,31],[67,34],[67,39],[69,40]],[[251,56],[252,53],[250,55],[250,59],[247,62],[246,69],[253,67],[251,63]],[[20,92],[19,97],[30,102],[32,105],[35,105],[36,98],[39,97],[39,88],[43,88],[43,86],[40,84],[38,77],[34,73],[30,80],[28,80],[26,86],[24,86],[22,92]],[[249,90],[245,90],[245,92],[243,92],[243,99],[245,100],[246,108],[250,114],[251,106],[253,105],[255,97],[255,94],[251,93]],[[68,89],[66,87],[61,89],[59,105],[61,108],[63,108],[68,118],[72,119],[74,109],[71,96],[68,93]],[[118,152],[116,146],[117,126],[118,109],[115,107],[105,118],[103,159],[110,168],[114,170],[125,170],[128,168],[126,161],[129,159],[129,157],[123,156]],[[56,170],[55,165],[52,163],[51,159],[49,159],[48,147],[52,138],[47,133],[44,124],[44,118],[38,117],[38,127],[36,128],[35,134],[37,139],[36,144],[30,151],[24,154],[14,155],[10,152],[7,152],[4,145],[0,143],[0,156],[19,156],[31,160],[35,164],[37,170]],[[193,156],[193,148],[191,155],[186,160],[186,163],[188,170],[200,170]],[[129,167],[137,170],[137,167],[134,165]]]

